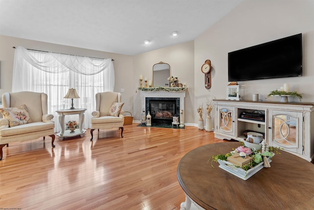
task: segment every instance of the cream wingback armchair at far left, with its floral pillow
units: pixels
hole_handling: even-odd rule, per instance
[[[2,95],[0,112],[0,160],[2,148],[12,142],[23,142],[40,137],[52,137],[54,147],[53,115],[48,114],[48,96],[41,92],[11,92]]]

